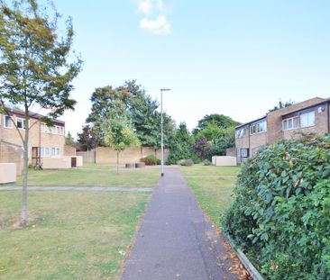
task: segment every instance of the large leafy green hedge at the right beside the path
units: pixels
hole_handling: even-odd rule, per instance
[[[330,136],[261,149],[243,166],[224,230],[267,279],[330,279]]]

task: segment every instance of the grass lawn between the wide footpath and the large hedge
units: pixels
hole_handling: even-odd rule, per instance
[[[220,216],[233,202],[233,188],[240,167],[194,165],[180,167],[201,209],[220,228]]]

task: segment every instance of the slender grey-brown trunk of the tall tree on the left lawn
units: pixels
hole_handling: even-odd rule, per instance
[[[28,198],[27,198],[27,181],[29,173],[29,126],[25,121],[25,137],[23,140],[23,172],[22,172],[22,212],[21,212],[21,227],[25,227],[28,221]]]

